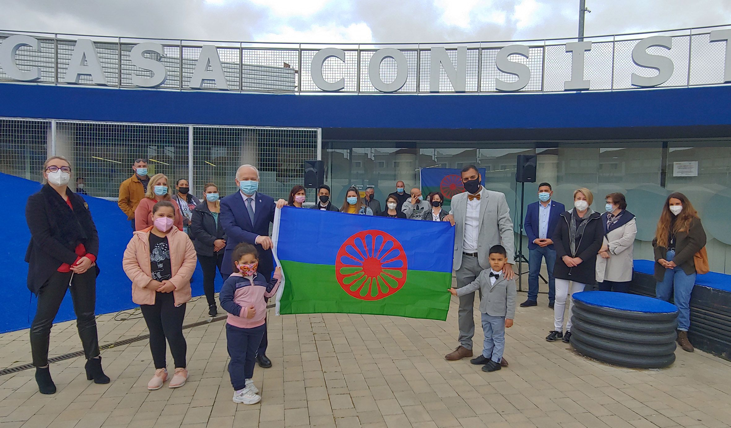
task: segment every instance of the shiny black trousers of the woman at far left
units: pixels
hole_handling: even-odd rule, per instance
[[[86,359],[99,356],[99,337],[96,335],[96,318],[94,318],[96,267],[80,275],[74,274],[73,278],[71,274],[72,272],[53,272],[48,283],[38,291],[36,316],[31,324],[31,354],[35,367],[48,365],[50,328],[69,288],[84,355]],[[72,281],[70,287],[69,280]]]

